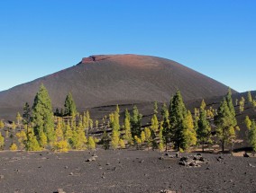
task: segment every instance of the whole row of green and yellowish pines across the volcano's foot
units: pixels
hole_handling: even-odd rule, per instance
[[[251,92],[248,93],[248,98],[253,105],[254,100],[250,96]],[[244,105],[244,101],[241,101]],[[183,152],[201,145],[204,152],[205,146],[213,144],[214,139],[215,143],[221,143],[223,151],[227,145],[232,151],[239,131],[235,116],[230,89],[218,110],[206,110],[206,103],[203,100],[200,108],[195,109],[194,116],[187,110],[181,93],[177,91],[171,97],[169,107],[164,103],[160,112],[158,103],[154,103],[148,127],[142,127],[142,114],[135,105],[131,114],[127,109],[124,111],[122,126],[118,105],[114,112],[102,118],[99,124],[98,120],[94,123],[88,111],[78,113],[71,93],[66,97],[64,110],[61,109],[59,112],[57,109],[53,113],[50,96],[44,85],[41,85],[32,109],[25,103],[23,116],[17,114],[17,125],[13,123],[12,127],[20,126],[19,132],[15,134],[18,145],[13,143],[10,148],[67,152],[72,149],[95,149],[96,145],[102,145],[105,149],[135,146],[137,149],[146,147],[163,151],[173,148]],[[1,122],[0,127],[3,124]],[[256,150],[256,124],[248,117],[245,122],[249,129],[250,143]],[[100,130],[102,135],[95,136],[92,132],[94,129]],[[0,133],[0,147],[4,145],[5,138]]]

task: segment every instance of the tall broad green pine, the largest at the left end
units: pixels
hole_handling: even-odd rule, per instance
[[[35,136],[39,139],[39,134],[43,131],[49,142],[54,141],[54,119],[49,94],[41,84],[32,106],[32,123]]]

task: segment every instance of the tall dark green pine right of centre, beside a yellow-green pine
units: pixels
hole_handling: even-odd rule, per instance
[[[173,132],[174,146],[178,150],[181,150],[185,148],[182,145],[184,144],[185,140],[183,133],[184,129],[186,129],[186,127],[184,127],[184,120],[187,115],[187,110],[179,91],[176,92],[170,104],[169,121],[171,130]]]

